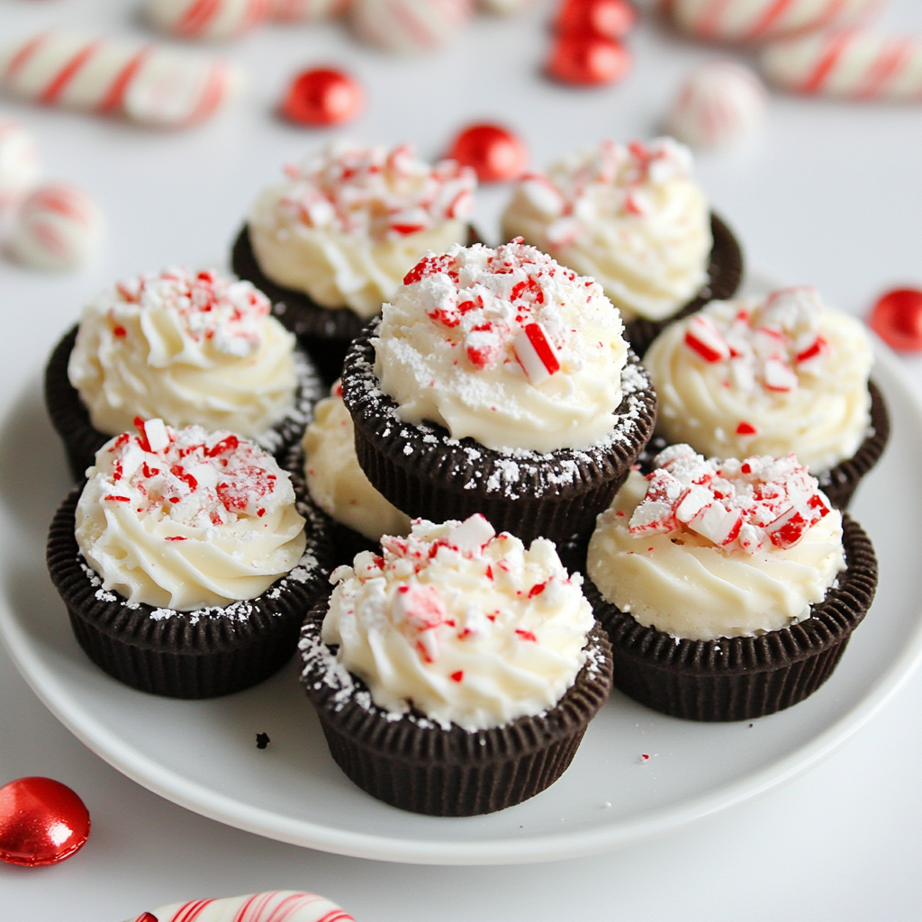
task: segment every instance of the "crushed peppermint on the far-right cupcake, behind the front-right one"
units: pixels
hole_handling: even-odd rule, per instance
[[[816,377],[830,353],[820,333],[823,304],[802,285],[773,291],[762,301],[716,302],[691,316],[684,344],[708,364],[727,363],[727,382],[743,391],[786,394],[801,375]],[[754,434],[740,422],[739,434]]]

